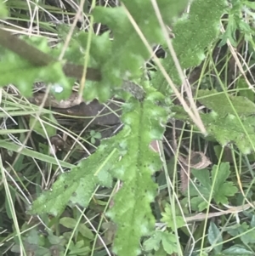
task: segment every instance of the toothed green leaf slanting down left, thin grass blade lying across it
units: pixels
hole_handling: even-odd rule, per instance
[[[121,133],[120,133],[121,134]],[[121,136],[118,134],[118,136]],[[107,143],[110,146],[107,147]],[[71,172],[61,174],[54,183],[52,191],[44,191],[42,195],[33,202],[30,213],[61,213],[67,204],[76,204],[82,207],[88,206],[95,186],[111,186],[111,175],[108,173],[120,156],[113,140],[105,141],[100,145],[98,151],[88,159],[83,159]],[[107,156],[106,159],[102,156]]]

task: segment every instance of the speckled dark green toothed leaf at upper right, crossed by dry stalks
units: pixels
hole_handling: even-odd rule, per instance
[[[205,10],[210,11],[205,15]],[[200,65],[204,60],[205,48],[218,37],[220,18],[226,11],[225,0],[194,0],[190,5],[189,14],[184,15],[182,19],[173,24],[173,48],[183,69]],[[170,53],[167,53],[167,58],[162,61],[162,64],[173,82],[180,85],[181,81],[175,61]],[[164,94],[166,91],[171,93],[161,72],[157,72],[152,82],[155,88]]]

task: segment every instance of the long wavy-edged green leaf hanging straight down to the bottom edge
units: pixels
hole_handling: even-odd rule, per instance
[[[123,105],[122,121],[125,123],[120,145],[127,153],[112,169],[111,174],[123,181],[120,191],[114,197],[114,206],[108,212],[117,225],[114,242],[116,254],[137,255],[139,239],[148,236],[154,229],[154,216],[150,202],[156,196],[156,184],[151,174],[161,168],[161,159],[150,150],[150,142],[161,139],[167,122],[167,111],[163,95],[147,92],[143,102],[130,99]],[[126,237],[123,240],[123,237]]]

